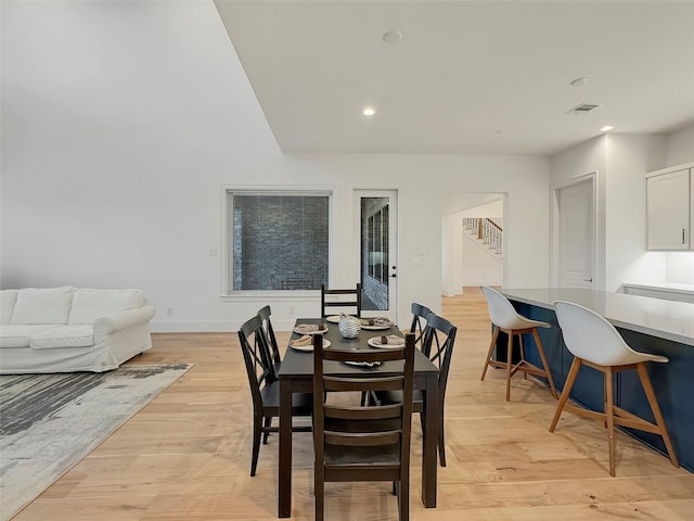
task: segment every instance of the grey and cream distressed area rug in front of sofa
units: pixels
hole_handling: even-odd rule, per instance
[[[16,514],[191,367],[0,376],[0,520]]]

